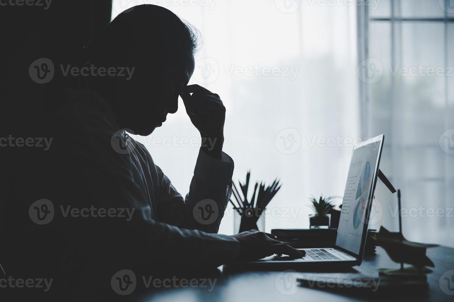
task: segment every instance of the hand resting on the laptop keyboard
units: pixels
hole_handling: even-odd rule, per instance
[[[238,261],[253,261],[262,259],[272,254],[285,254],[292,258],[304,256],[299,250],[290,244],[276,240],[276,236],[268,233],[250,230],[233,235],[240,242],[240,254]]]

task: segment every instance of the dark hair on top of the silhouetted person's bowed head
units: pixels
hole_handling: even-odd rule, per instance
[[[199,31],[176,14],[157,5],[138,5],[119,14],[92,44],[96,64],[124,66],[132,45],[147,49],[156,64],[169,66],[186,60],[200,46]]]

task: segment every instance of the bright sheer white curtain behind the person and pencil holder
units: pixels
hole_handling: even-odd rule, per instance
[[[202,32],[190,84],[218,93],[227,108],[224,151],[235,161],[234,181],[251,169],[253,182],[279,177],[283,184],[268,206],[266,230],[308,227],[308,197],[343,195],[360,136],[355,6],[114,0],[113,16],[138,4],[164,6]],[[139,140],[185,194],[200,141],[181,100],[179,108]],[[232,232],[229,206],[220,233]]]

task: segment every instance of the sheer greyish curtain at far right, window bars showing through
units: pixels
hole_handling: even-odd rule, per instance
[[[380,166],[402,189],[410,240],[454,246],[454,7],[450,0],[381,0],[369,8],[365,129],[384,133]],[[371,65],[374,64],[374,65]],[[374,73],[372,70],[378,72]],[[398,230],[383,185],[377,224]]]

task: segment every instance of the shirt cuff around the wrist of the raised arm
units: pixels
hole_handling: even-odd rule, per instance
[[[226,153],[222,152],[222,159],[219,160],[200,149],[194,175],[213,185],[223,186],[232,180],[233,168],[233,160]]]

